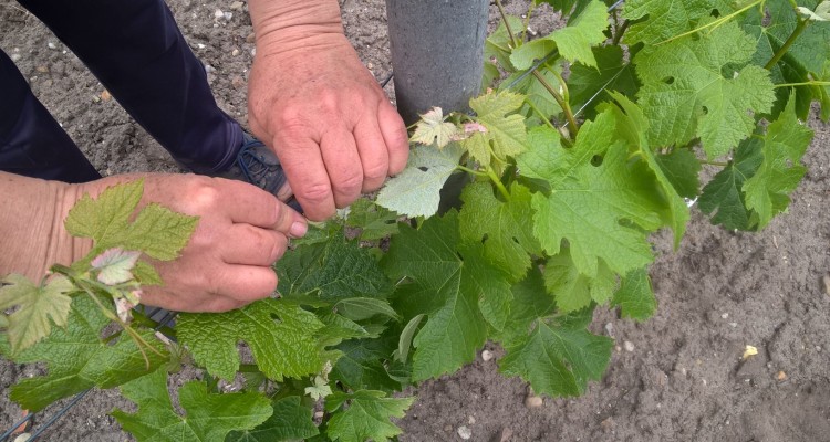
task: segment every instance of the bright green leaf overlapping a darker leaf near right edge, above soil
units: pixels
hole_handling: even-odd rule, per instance
[[[764,161],[758,171],[744,182],[746,207],[758,214],[758,229],[789,206],[789,193],[807,172],[801,157],[810,141],[812,130],[798,120],[796,102],[790,99],[778,119],[767,127],[761,148]]]

